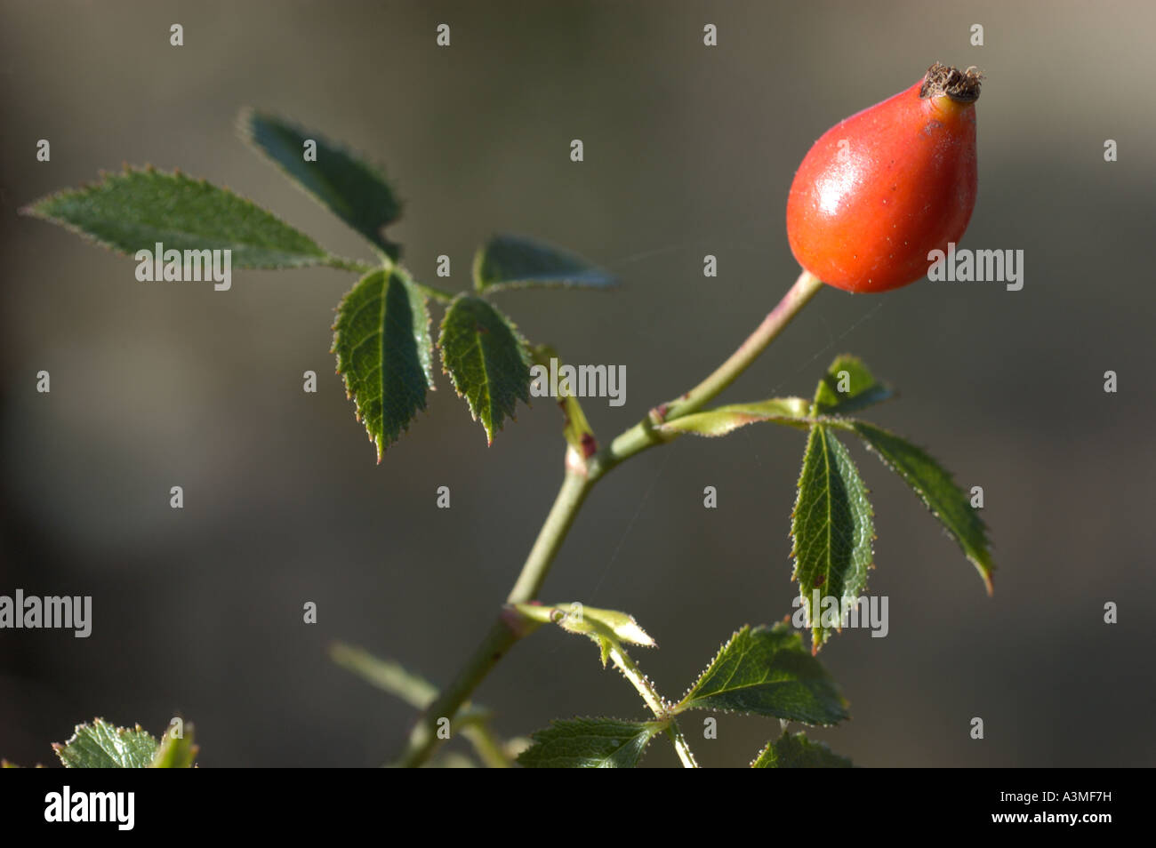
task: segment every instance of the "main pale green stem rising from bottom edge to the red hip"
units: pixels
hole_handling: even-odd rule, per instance
[[[562,546],[566,533],[573,523],[578,509],[591,488],[609,470],[625,460],[655,445],[669,441],[673,436],[660,432],[655,424],[689,415],[714,399],[747,370],[766,345],[770,344],[799,311],[810,302],[822,282],[809,271],[802,271],[794,285],[787,290],[779,304],[763,319],[754,333],[739,349],[705,380],[690,392],[669,403],[651,410],[645,419],[617,436],[609,445],[590,459],[583,459],[573,447],[566,451],[566,474],[562,488],[550,507],[546,523],[534,541],[534,546],[521,567],[521,573],[511,589],[507,603],[533,601],[542,587],[555,555]],[[406,749],[395,765],[416,767],[422,765],[433,751],[437,738],[437,720],[453,716],[469,698],[479,683],[490,672],[505,653],[526,633],[534,630],[520,615],[504,608],[498,619],[490,626],[482,642],[462,665],[453,682],[442,690],[437,700],[417,719]],[[677,729],[675,729],[677,732]],[[673,738],[673,737],[672,737]],[[686,741],[683,739],[683,745]],[[676,747],[679,743],[676,742]],[[689,756],[689,749],[686,753]],[[680,757],[683,752],[680,749]],[[692,757],[690,758],[692,761]],[[687,759],[683,759],[687,763]]]

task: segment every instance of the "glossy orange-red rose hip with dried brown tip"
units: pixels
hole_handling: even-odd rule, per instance
[[[852,292],[913,283],[976,206],[980,75],[935,64],[894,97],[828,129],[799,165],[787,239],[803,268]]]

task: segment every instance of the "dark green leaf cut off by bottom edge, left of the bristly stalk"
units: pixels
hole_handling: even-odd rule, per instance
[[[526,768],[633,768],[662,721],[570,719],[550,722],[532,735],[533,744],[518,754]]]

